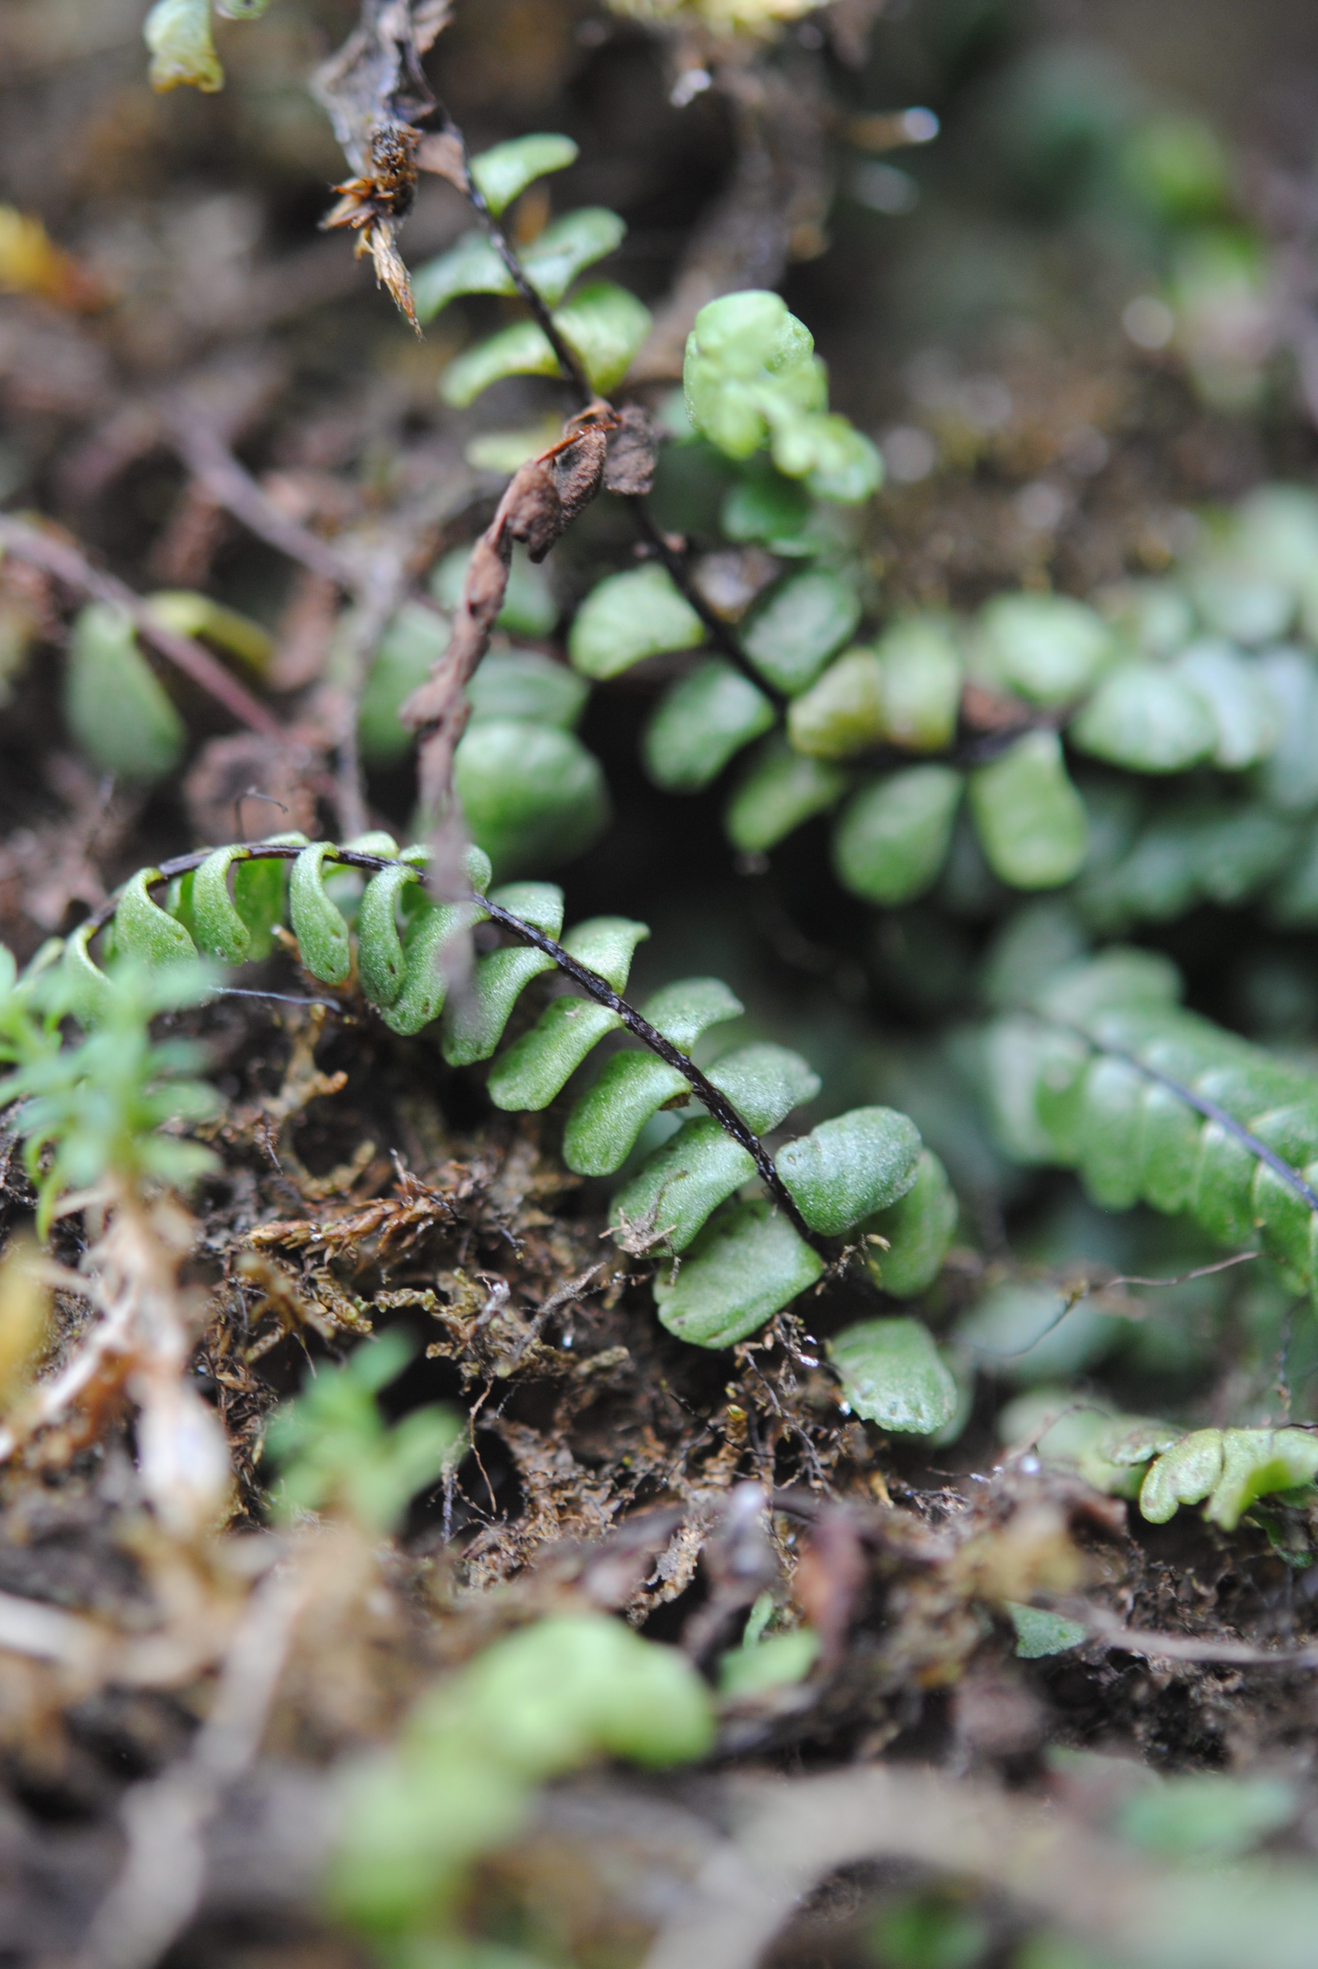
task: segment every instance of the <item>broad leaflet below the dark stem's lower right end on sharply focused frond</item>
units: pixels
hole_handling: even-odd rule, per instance
[[[735,1347],[806,1292],[824,1260],[764,1199],[725,1205],[676,1276],[654,1280],[662,1325],[695,1347]]]

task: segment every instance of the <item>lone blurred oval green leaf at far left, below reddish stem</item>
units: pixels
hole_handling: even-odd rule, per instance
[[[124,780],[162,780],[187,746],[187,727],[138,650],[132,622],[106,603],[79,608],[63,711],[79,750]]]

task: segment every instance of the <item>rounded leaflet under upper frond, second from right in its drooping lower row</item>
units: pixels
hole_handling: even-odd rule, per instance
[[[855,794],[833,831],[833,868],[865,902],[898,904],[938,878],[961,803],[952,766],[908,766]]]

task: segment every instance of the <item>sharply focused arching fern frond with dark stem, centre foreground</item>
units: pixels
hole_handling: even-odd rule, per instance
[[[636,1010],[623,990],[632,951],[648,937],[644,923],[593,918],[560,943],[563,892],[554,884],[518,882],[485,894],[491,864],[473,849],[471,896],[431,904],[422,886],[426,860],[426,849],[400,855],[386,835],[347,847],[299,835],[234,843],[138,870],[106,935],[116,955],[148,965],[177,963],[197,949],[240,963],[270,949],[288,910],[311,977],[345,984],[357,973],[384,1024],[404,1036],[435,1028],[449,1065],[491,1059],[532,979],[563,971],[577,990],[552,998],[494,1059],[489,1093],[504,1111],[548,1109],[607,1034],[626,1028],[640,1040],[640,1048],[615,1053],[567,1112],[563,1160],[583,1175],[617,1174],[662,1109],[692,1099],[705,1109],[642,1160],[611,1213],[628,1248],[660,1246],[680,1258],[668,1276],[656,1276],[654,1298],[664,1325],[686,1341],[729,1347],[745,1339],[824,1276],[824,1240],[861,1225],[879,1227],[871,1235],[881,1240],[883,1227],[890,1229],[898,1290],[928,1284],[956,1213],[942,1164],[922,1150],[906,1114],[853,1109],[770,1156],[760,1138],[810,1101],[820,1081],[798,1053],[768,1044],[723,1053],[707,1071],[693,1063],[695,1042],[743,1010],[723,983],[684,979]],[[368,874],[355,931],[329,894],[327,864]],[[164,906],[152,896],[162,884],[169,884]],[[516,945],[483,955],[471,992],[449,996],[445,951],[481,921],[508,931]],[[73,1004],[93,1024],[112,994],[91,951],[100,927],[91,918],[63,957]],[[766,1195],[741,1199],[757,1177]]]

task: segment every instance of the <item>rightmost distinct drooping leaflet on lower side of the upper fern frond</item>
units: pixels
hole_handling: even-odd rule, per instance
[[[969,805],[989,868],[1013,888],[1058,888],[1080,870],[1089,823],[1056,732],[1026,732],[973,772]]]

